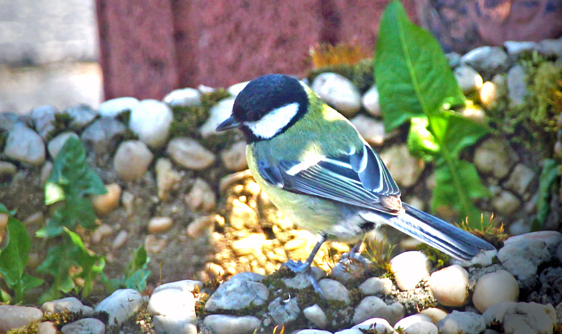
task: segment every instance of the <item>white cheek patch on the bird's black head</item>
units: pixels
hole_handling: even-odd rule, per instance
[[[285,125],[297,115],[299,105],[293,102],[290,105],[279,107],[271,110],[267,115],[262,117],[259,121],[244,122],[256,137],[262,139],[269,139],[278,134]]]

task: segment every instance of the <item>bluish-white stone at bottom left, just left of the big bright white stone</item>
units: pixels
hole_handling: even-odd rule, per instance
[[[137,290],[118,289],[99,302],[94,311],[107,312],[110,323],[119,325],[137,313],[143,303],[144,297]]]

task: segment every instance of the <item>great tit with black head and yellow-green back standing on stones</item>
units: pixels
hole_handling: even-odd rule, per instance
[[[400,189],[355,127],[305,84],[287,75],[252,80],[216,130],[239,128],[246,157],[262,191],[298,227],[316,234],[309,272],[326,240],[356,242],[388,224],[457,259],[472,259],[490,243],[400,200]],[[312,284],[318,285],[309,275]]]

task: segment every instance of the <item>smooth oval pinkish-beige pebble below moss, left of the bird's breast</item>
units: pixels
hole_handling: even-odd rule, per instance
[[[202,170],[215,161],[215,155],[192,138],[174,138],[166,151],[174,163],[187,169]]]

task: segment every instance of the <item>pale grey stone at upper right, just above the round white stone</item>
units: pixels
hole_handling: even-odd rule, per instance
[[[482,46],[462,56],[460,64],[468,65],[481,74],[498,74],[507,69],[507,54],[501,47]]]

